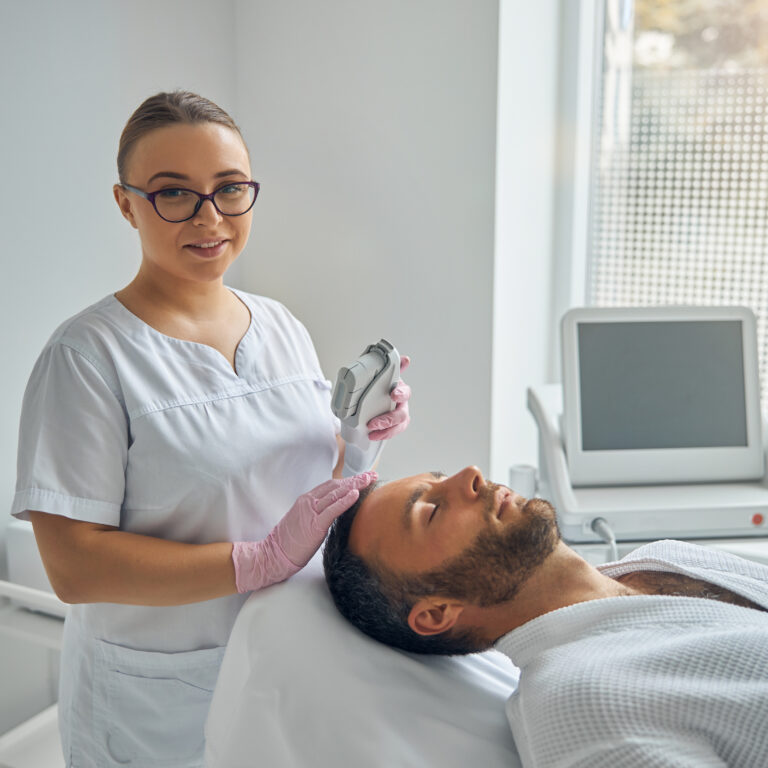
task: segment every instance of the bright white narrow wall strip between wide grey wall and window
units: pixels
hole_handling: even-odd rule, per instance
[[[502,0],[493,277],[491,474],[538,461],[526,389],[553,381],[553,224],[560,5]]]

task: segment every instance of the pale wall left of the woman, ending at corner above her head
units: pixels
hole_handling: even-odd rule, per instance
[[[0,544],[34,360],[60,322],[138,266],[138,240],[112,200],[123,124],[146,96],[176,87],[234,110],[233,59],[221,55],[233,30],[231,3],[0,3]],[[0,733],[49,703],[48,663],[0,635]]]

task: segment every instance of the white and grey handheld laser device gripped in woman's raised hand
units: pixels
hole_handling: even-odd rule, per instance
[[[370,441],[366,424],[395,408],[390,393],[400,380],[400,355],[386,340],[366,347],[352,365],[339,369],[331,397],[331,410],[341,420],[344,477],[373,467],[384,440]]]

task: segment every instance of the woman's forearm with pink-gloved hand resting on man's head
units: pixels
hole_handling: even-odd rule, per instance
[[[30,511],[54,591],[65,603],[183,605],[283,581],[322,545],[375,472],[326,480],[296,499],[259,541],[184,544]]]

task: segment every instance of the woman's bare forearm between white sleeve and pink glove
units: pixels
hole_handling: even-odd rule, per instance
[[[51,586],[65,603],[183,605],[237,592],[232,544],[182,544],[29,512]]]

